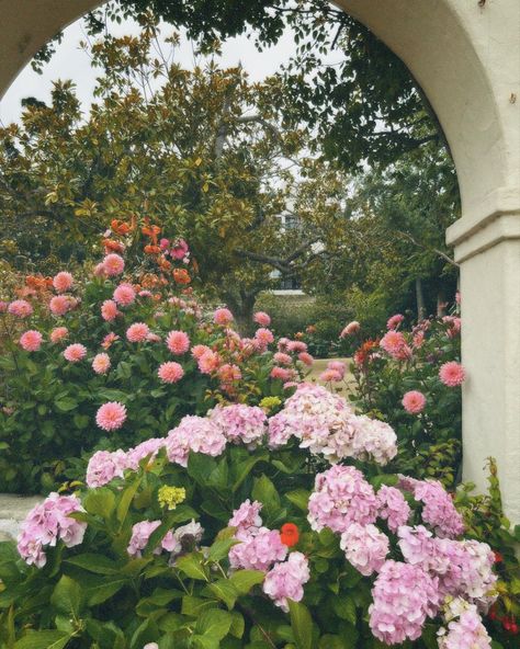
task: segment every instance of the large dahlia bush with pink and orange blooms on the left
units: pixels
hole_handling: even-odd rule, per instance
[[[0,303],[0,491],[56,487],[92,449],[165,434],[218,402],[275,408],[312,363],[304,343],[276,346],[267,314],[246,339],[228,309],[204,310],[185,241],[148,224],[136,254],[137,229],[113,221],[91,272],[26,277]]]

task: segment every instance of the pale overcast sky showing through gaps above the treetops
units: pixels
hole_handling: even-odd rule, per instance
[[[163,33],[171,33],[171,26],[166,26]],[[111,32],[116,35],[136,33],[137,27],[132,21],[125,21],[122,25],[113,25]],[[99,70],[90,67],[89,58],[79,48],[79,42],[86,38],[82,21],[78,21],[67,27],[64,39],[57,46],[57,53],[49,64],[44,67],[43,75],[37,75],[27,65],[15,79],[11,88],[0,102],[0,121],[3,125],[16,122],[20,118],[20,100],[24,96],[35,96],[48,102],[52,81],[57,79],[72,79],[77,82],[77,91],[83,110],[87,110],[92,100],[92,90],[95,75]],[[259,53],[253,39],[247,36],[233,38],[223,45],[223,66],[231,67],[238,62],[249,72],[253,81],[275,72],[280,65],[286,61],[295,50],[295,45],[290,33],[285,34],[275,47]],[[190,42],[182,39],[181,47],[177,52],[176,60],[184,67],[193,67],[193,50]]]

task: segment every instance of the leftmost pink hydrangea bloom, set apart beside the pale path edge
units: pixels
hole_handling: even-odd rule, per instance
[[[50,493],[43,503],[34,506],[22,523],[18,537],[18,551],[31,566],[43,568],[47,561],[45,546],[63,540],[75,547],[83,540],[87,523],[69,517],[72,512],[84,511],[76,496]]]

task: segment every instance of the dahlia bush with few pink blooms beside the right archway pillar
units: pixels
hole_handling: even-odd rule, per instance
[[[340,333],[342,353],[353,358],[350,398],[392,424],[399,440],[399,468],[450,486],[461,460],[461,386],[466,379],[457,309],[455,304],[451,315],[410,328],[396,314],[377,339],[363,340],[357,321]],[[331,376],[331,386],[341,382],[342,376]]]

